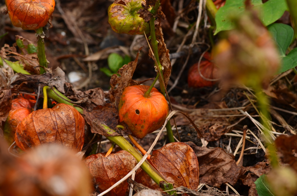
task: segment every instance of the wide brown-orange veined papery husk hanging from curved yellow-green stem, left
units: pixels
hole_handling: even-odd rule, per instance
[[[33,111],[17,126],[15,142],[26,151],[43,143],[57,143],[81,151],[85,120],[72,106],[60,103]]]

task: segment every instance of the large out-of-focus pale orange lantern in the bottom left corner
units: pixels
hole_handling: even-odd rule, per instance
[[[88,196],[91,176],[75,152],[56,144],[39,146],[20,158],[0,155],[0,195]]]

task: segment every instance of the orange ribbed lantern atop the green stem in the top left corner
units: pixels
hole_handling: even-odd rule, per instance
[[[51,20],[54,0],[5,0],[12,24],[24,30],[36,30]]]

